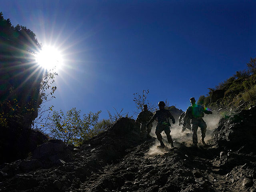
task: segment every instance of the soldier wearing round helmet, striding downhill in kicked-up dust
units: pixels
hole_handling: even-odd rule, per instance
[[[164,131],[167,136],[168,143],[170,143],[171,148],[174,148],[172,137],[170,136],[171,124],[169,122],[169,118],[172,120],[173,124],[175,123],[175,119],[169,110],[164,109],[165,103],[163,101],[158,102],[158,106],[159,106],[159,110],[156,111],[154,116],[147,123],[147,127],[150,125],[150,123],[154,122],[154,120],[157,119],[158,123],[156,126],[155,134],[157,139],[160,141],[160,147],[162,148],[165,147],[164,142],[162,141],[162,135],[161,135],[161,132]]]

